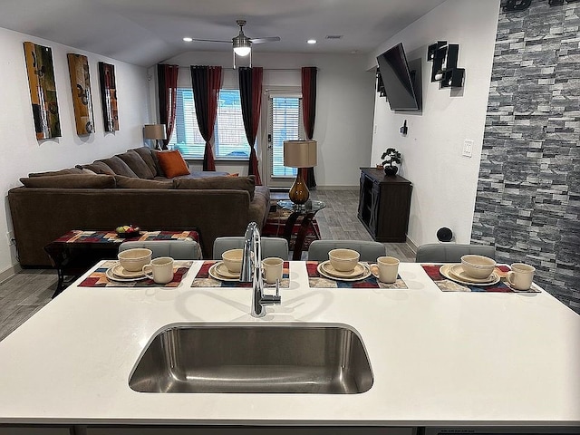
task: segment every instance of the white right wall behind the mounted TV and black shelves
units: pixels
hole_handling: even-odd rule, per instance
[[[408,237],[419,246],[437,241],[440,227],[450,227],[458,243],[469,243],[486,120],[489,82],[498,25],[499,0],[448,0],[396,34],[368,58],[403,43],[411,62],[421,59],[422,111],[391,111],[375,99],[371,166],[389,147],[401,151],[400,175],[413,185]],[[439,89],[430,82],[427,47],[435,41],[459,43],[458,67],[464,87]],[[399,128],[407,120],[409,133]],[[473,140],[473,157],[461,155],[464,140]]]

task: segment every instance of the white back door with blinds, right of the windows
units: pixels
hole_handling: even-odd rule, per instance
[[[302,94],[300,91],[268,91],[266,96],[267,131],[262,145],[262,179],[269,187],[290,188],[297,169],[284,166],[284,141],[304,139]]]

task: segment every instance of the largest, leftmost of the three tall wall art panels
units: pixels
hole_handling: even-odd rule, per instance
[[[56,101],[54,83],[53,50],[36,43],[24,42],[24,58],[30,100],[33,105],[34,131],[36,139],[61,136],[61,122]]]

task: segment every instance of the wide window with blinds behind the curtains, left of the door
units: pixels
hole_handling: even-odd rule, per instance
[[[239,91],[219,91],[218,116],[214,126],[213,149],[216,159],[247,160],[247,144]],[[179,150],[186,159],[203,159],[206,141],[198,129],[193,90],[178,88],[175,128],[169,146]]]

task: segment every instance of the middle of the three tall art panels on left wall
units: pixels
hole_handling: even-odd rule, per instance
[[[94,132],[94,117],[92,115],[91,76],[89,60],[82,54],[67,54],[69,73],[71,74],[71,90],[73,91],[74,120],[76,132],[79,135]]]

